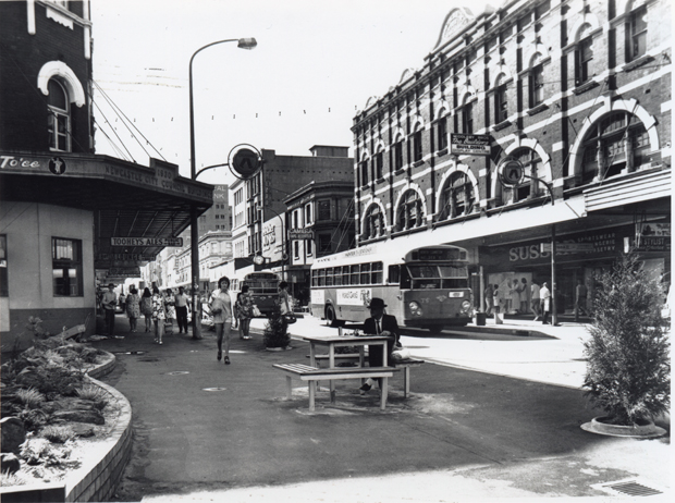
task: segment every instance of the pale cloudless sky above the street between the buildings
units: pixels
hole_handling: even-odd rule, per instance
[[[219,44],[194,59],[197,170],[228,162],[240,144],[291,156],[336,145],[353,155],[353,119],[368,98],[424,66],[453,8],[478,14],[486,3],[91,0],[96,151],[144,165],[163,158],[189,176],[191,57],[254,37],[254,50]],[[199,181],[234,177],[218,168]]]

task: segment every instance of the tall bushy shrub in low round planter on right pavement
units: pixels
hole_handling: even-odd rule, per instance
[[[653,420],[668,410],[671,364],[661,315],[664,292],[635,253],[596,278],[594,322],[585,343],[585,395],[605,416],[587,431],[621,437],[658,437]]]

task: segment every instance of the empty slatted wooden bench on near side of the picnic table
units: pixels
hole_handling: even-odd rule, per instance
[[[317,368],[303,364],[274,364],[273,367],[286,373],[286,398],[293,395],[292,377],[296,376],[300,381],[309,382],[309,410],[315,410],[315,397],[317,381],[333,381],[338,379],[367,379],[382,378],[382,395],[380,408],[384,410],[386,405],[386,387],[390,377],[394,376],[397,368],[394,367],[349,367],[349,368]],[[331,403],[335,403],[335,393],[331,392]]]

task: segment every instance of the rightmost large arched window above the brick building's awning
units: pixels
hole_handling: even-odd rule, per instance
[[[590,128],[582,145],[581,182],[628,173],[649,162],[649,134],[639,119],[612,112]]]

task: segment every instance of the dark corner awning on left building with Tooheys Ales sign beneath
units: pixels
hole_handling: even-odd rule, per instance
[[[108,156],[0,152],[0,198],[91,210],[96,269],[110,269],[139,266],[165,247],[113,246],[112,237],[176,237],[193,205],[197,214],[212,205],[213,186],[156,159],[148,168]]]

